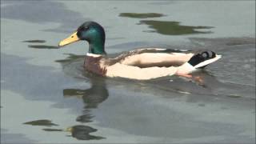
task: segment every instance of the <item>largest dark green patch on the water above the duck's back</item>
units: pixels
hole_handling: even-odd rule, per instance
[[[156,32],[158,34],[165,35],[182,35],[182,34],[209,34],[211,31],[198,31],[201,29],[211,29],[212,26],[182,26],[180,22],[171,21],[154,21],[154,20],[143,20],[140,24],[146,24],[154,30],[147,32]]]

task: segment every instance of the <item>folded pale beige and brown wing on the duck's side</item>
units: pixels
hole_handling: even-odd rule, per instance
[[[132,50],[118,56],[119,62],[129,66],[181,66],[187,62],[194,52],[190,50],[144,48]]]

